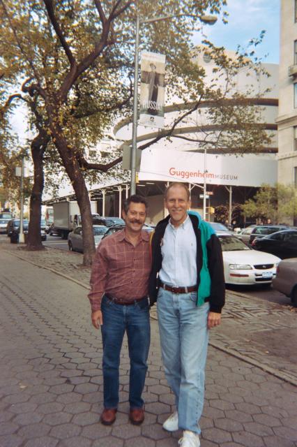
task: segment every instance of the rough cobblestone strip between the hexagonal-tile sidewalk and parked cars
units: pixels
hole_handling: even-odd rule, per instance
[[[90,269],[82,267],[82,256],[70,251],[46,249],[25,251],[0,237],[0,246],[27,261],[71,277],[89,288]],[[155,306],[151,317],[156,319]],[[223,325],[211,331],[211,345],[249,360],[256,366],[297,385],[297,309],[227,291]]]

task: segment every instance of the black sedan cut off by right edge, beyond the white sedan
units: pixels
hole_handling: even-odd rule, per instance
[[[279,258],[296,258],[297,257],[297,230],[282,230],[254,239],[252,248],[266,253],[274,254]]]

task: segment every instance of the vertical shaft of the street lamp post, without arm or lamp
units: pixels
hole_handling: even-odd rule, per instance
[[[139,52],[139,16],[136,16],[135,27],[135,56],[134,56],[134,91],[133,91],[133,126],[131,150],[131,190],[136,193],[136,152],[137,152],[137,115],[138,115],[138,52]]]

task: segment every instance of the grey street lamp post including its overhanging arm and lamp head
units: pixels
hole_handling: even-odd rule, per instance
[[[169,20],[173,17],[189,16],[188,14],[178,15],[164,15],[160,17],[153,17],[151,19],[140,20],[139,15],[136,16],[135,23],[135,56],[134,56],[134,91],[133,91],[133,122],[132,122],[132,150],[131,150],[131,179],[130,179],[130,194],[136,193],[136,154],[137,154],[137,119],[138,119],[138,73],[139,73],[139,28],[141,24],[160,22],[162,20]],[[214,15],[201,15],[199,17],[201,22],[213,25],[218,20]]]

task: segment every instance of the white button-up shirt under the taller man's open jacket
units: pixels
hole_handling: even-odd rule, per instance
[[[169,221],[161,242],[160,280],[169,286],[197,284],[197,242],[190,217],[180,226]]]

